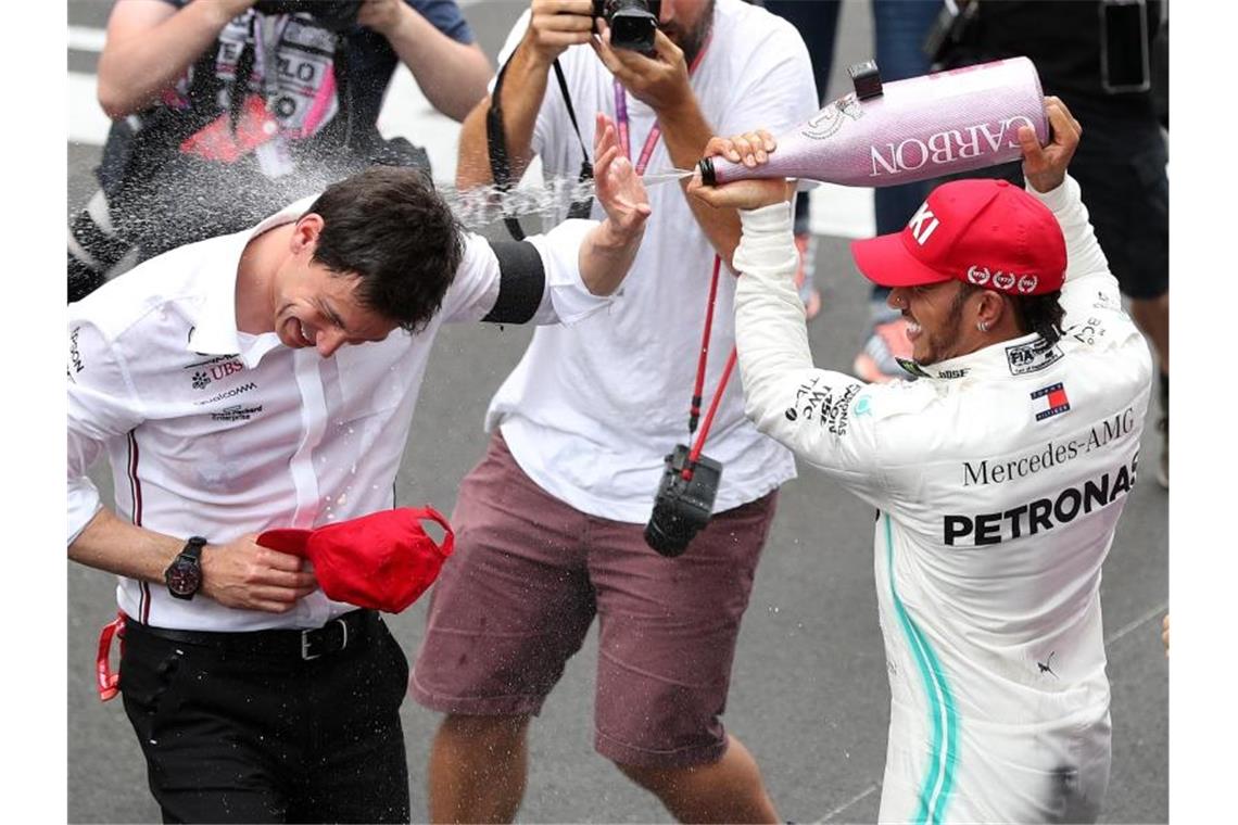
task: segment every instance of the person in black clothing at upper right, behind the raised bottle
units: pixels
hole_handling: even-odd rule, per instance
[[[1160,0],[957,0],[943,15],[940,68],[1025,54],[1045,94],[1083,125],[1071,174],[1130,317],[1160,367],[1169,487],[1169,12]],[[1023,183],[1018,163],[971,173]],[[1086,335],[1087,330],[1077,334]]]

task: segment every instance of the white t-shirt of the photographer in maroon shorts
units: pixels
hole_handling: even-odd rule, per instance
[[[514,51],[529,12],[508,37]],[[586,146],[593,113],[615,115],[614,84],[593,49],[576,46],[560,62]],[[775,135],[817,110],[807,48],[785,20],[739,0],[718,0],[713,40],[692,75],[701,111],[717,135],[769,129]],[[633,162],[654,126],[654,111],[626,95]],[[581,147],[557,83],[550,79],[532,148],[547,179],[574,181]],[[671,168],[659,140],[649,172]],[[652,510],[664,459],[688,443],[692,396],[704,328],[713,247],[682,189],[649,189],[652,215],[624,286],[623,301],[574,329],[539,329],[499,388],[487,429],[501,424],[521,469],[543,490],[579,511],[644,523]],[[594,216],[602,208],[594,203]],[[734,345],[735,278],[723,267],[709,340],[702,416]],[[739,376],[718,408],[704,454],[722,461],[714,512],[753,501],[795,477],[791,453],[744,418]]]

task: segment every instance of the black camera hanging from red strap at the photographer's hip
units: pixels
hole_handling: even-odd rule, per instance
[[[685,479],[683,470],[690,465],[692,477]],[[709,523],[721,480],[722,464],[704,455],[692,463],[688,448],[676,444],[675,451],[666,456],[654,512],[645,526],[645,543],[666,557],[682,554],[688,542]]]

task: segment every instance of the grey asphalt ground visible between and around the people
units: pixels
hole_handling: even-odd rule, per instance
[[[69,22],[99,28],[109,2],[69,2]],[[524,7],[465,7],[491,56]],[[89,32],[87,32],[89,33]],[[869,57],[864,2],[844,5],[836,80]],[[69,71],[93,72],[97,53],[69,52]],[[410,135],[415,141],[416,135]],[[92,190],[98,146],[68,146],[69,205]],[[818,365],[848,369],[863,343],[867,287],[844,237],[818,236],[816,280],[825,309],[810,324]],[[397,503],[449,512],[459,479],[485,447],[482,414],[531,331],[453,325],[439,335],[397,481]],[[1151,465],[1160,434],[1149,423]],[[93,474],[108,486],[106,472]],[[744,620],[724,721],[753,751],[780,814],[795,821],[874,821],[889,721],[889,690],[872,573],[872,510],[810,469],[784,487]],[[68,565],[68,819],[156,823],[145,764],[120,701],[100,704],[93,678],[99,627],[115,615],[114,579]],[[1113,772],[1102,821],[1164,823],[1169,809],[1167,665],[1160,617],[1167,602],[1167,494],[1151,472],[1135,486],[1102,585],[1113,689]],[[425,600],[389,617],[410,659]],[[531,733],[529,789],[519,820],[666,821],[660,804],[592,750],[595,633],[568,665]],[[426,818],[425,768],[437,716],[402,709],[415,820]]]

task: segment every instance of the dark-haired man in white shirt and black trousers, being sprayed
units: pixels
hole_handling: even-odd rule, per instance
[[[609,306],[649,205],[597,131],[602,223],[489,244],[378,167],[69,306],[68,553],[119,576],[119,686],[167,821],[409,820],[407,660],[256,534],[394,506],[442,323]],[[104,451],[115,513],[85,475]]]

